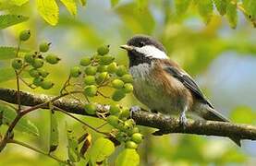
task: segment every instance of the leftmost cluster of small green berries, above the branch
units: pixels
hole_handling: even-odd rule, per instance
[[[27,41],[29,39],[30,30],[20,32],[19,41]],[[60,58],[53,53],[43,54],[48,52],[50,44],[50,42],[44,41],[39,45],[39,52],[25,53],[23,59],[17,57],[12,61],[12,67],[17,71],[30,66],[29,74],[30,77],[33,77],[32,84],[43,89],[51,89],[54,86],[52,81],[46,79],[49,72],[43,69],[43,65],[45,62],[50,65],[55,65],[60,61]]]

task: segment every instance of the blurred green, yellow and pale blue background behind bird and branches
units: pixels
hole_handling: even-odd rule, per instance
[[[13,8],[12,13],[29,16],[27,22],[0,31],[1,45],[17,45],[18,32],[31,30],[31,39],[24,48],[37,49],[41,41],[52,42],[52,52],[58,54],[60,65],[51,67],[54,89],[31,90],[22,85],[22,90],[32,93],[58,94],[67,79],[69,67],[79,63],[79,58],[95,53],[98,46],[111,45],[111,53],[117,62],[128,65],[126,53],[119,49],[131,36],[142,33],[162,41],[173,60],[195,77],[216,110],[229,117],[232,122],[256,125],[256,31],[241,13],[238,27],[229,27],[225,17],[214,14],[211,22],[204,24],[190,6],[186,14],[177,15],[171,0],[150,0],[145,8],[122,0],[111,7],[108,0],[88,0],[86,6],[78,6],[78,15],[70,16],[64,6],[60,7],[59,23],[50,26],[38,15],[35,2]],[[4,13],[4,12],[3,12]],[[0,63],[5,66],[6,62]],[[1,88],[15,88],[14,80],[0,83]],[[102,101],[101,101],[102,100]],[[98,102],[105,102],[98,99]],[[133,96],[121,101],[123,105],[141,105]],[[30,120],[39,126],[41,136],[19,134],[18,138],[35,147],[47,149],[49,135],[49,113],[30,113]],[[79,136],[81,125],[63,114],[58,114],[60,126],[60,148],[56,155],[67,157],[65,122]],[[91,125],[102,124],[94,118],[78,116]],[[106,126],[107,128],[107,126]],[[141,165],[255,165],[256,142],[243,141],[236,147],[226,138],[213,136],[168,135],[150,136],[152,129],[141,127],[146,135],[140,146]],[[97,134],[93,134],[93,139]],[[117,152],[116,152],[117,153]],[[115,155],[114,155],[115,156]],[[58,165],[43,155],[8,145],[0,154],[0,165]]]

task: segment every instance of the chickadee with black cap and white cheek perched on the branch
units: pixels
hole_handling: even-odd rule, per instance
[[[186,125],[187,112],[204,120],[229,122],[214,110],[193,78],[168,58],[162,43],[137,35],[120,47],[128,51],[133,93],[153,113],[178,114],[181,125]],[[241,146],[238,137],[230,138]]]

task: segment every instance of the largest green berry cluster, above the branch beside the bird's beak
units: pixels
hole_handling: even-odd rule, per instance
[[[117,65],[115,57],[109,54],[109,45],[97,49],[92,57],[85,56],[78,66],[70,70],[70,77],[83,77],[84,95],[94,97],[98,88],[110,85],[115,89],[113,101],[121,101],[133,90],[132,77],[124,65]]]

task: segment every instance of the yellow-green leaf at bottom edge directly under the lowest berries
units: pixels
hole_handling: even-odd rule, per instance
[[[118,166],[138,166],[140,165],[140,156],[135,149],[126,148],[116,158]]]

